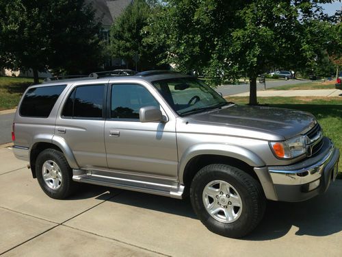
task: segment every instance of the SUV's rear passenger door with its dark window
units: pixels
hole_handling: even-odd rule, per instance
[[[56,136],[64,138],[81,168],[107,169],[103,130],[106,84],[81,84],[66,96],[56,120]]]

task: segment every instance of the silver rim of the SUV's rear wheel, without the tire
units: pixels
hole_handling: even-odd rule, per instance
[[[42,164],[42,178],[45,184],[53,190],[62,186],[62,172],[53,160],[47,160]]]

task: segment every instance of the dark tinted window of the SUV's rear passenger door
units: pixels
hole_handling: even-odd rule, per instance
[[[78,86],[64,105],[63,117],[102,118],[104,85]]]

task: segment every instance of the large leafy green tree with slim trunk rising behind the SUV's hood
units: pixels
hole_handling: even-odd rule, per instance
[[[257,104],[259,74],[306,65],[329,41],[304,37],[312,21],[328,19],[318,2],[331,1],[168,0],[150,19],[150,35],[166,43],[168,62],[202,73],[213,85],[248,75],[250,104]]]

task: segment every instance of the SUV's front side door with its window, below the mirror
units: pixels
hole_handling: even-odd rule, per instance
[[[148,86],[135,83],[109,83],[109,117],[105,121],[105,147],[111,170],[176,179],[178,157],[176,119],[168,122],[139,120],[139,110],[146,106],[160,108]],[[150,88],[151,89],[151,88]]]

